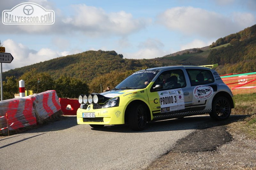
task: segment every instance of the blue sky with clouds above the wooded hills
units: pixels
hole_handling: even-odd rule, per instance
[[[255,0],[1,0],[1,15],[24,2],[53,10],[55,23],[1,22],[0,41],[14,57],[3,71],[88,50],[162,57],[256,24]]]

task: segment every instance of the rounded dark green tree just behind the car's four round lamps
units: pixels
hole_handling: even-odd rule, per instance
[[[55,81],[55,90],[61,98],[78,98],[80,94],[88,94],[89,87],[80,79],[62,75]]]

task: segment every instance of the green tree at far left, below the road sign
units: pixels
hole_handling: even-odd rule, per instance
[[[12,99],[17,93],[19,93],[19,86],[15,76],[6,77],[6,81],[3,81],[3,99]]]

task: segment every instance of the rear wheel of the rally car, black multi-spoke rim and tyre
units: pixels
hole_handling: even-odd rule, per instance
[[[214,120],[225,120],[231,113],[231,105],[226,97],[217,97],[212,103],[211,118]]]

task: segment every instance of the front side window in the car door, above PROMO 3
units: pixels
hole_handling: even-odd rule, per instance
[[[162,86],[162,88],[157,89],[157,91],[185,87],[186,81],[184,73],[182,70],[165,71],[157,77],[152,87],[155,87],[155,85]]]

